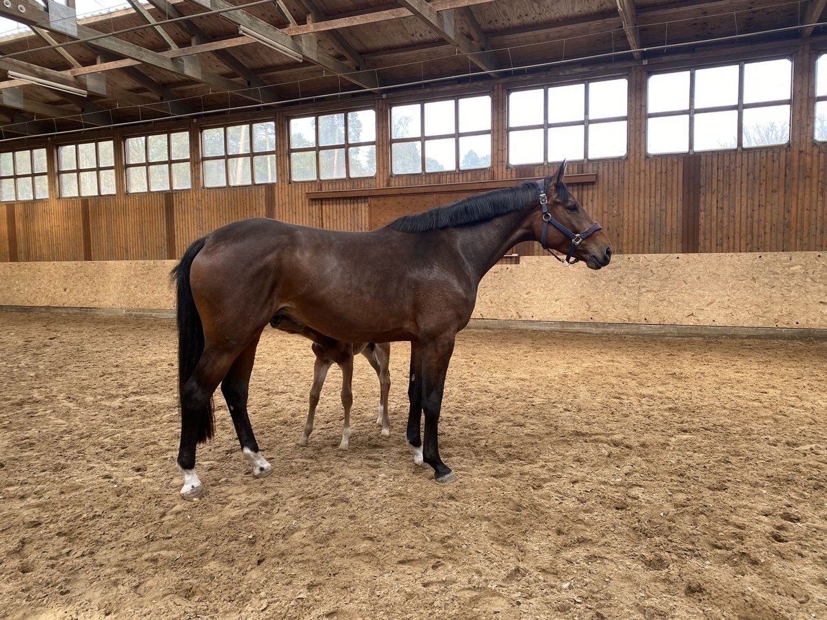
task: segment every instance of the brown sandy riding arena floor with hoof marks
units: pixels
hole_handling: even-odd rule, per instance
[[[340,374],[300,448],[308,341],[265,331],[251,417],[179,498],[174,323],[0,312],[0,617],[827,618],[827,343],[466,331],[440,440],[404,447],[409,346]]]

